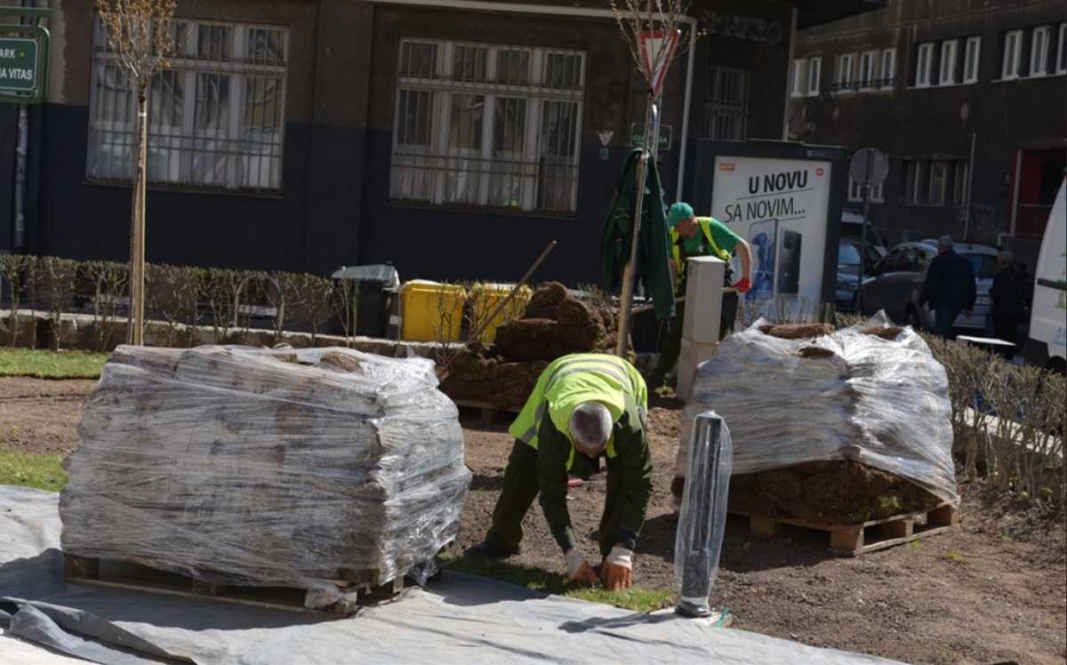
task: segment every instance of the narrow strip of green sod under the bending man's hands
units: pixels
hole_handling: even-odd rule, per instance
[[[646,589],[635,586],[625,591],[609,591],[601,586],[573,583],[563,575],[540,568],[517,566],[507,561],[466,556],[457,557],[448,554],[443,555],[442,560],[451,570],[509,582],[543,593],[578,598],[633,612],[652,612],[668,607],[673,602],[671,592],[663,589]]]

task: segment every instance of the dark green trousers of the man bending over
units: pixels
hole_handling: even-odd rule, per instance
[[[582,460],[579,457],[575,454],[575,466],[579,463],[589,463],[590,468],[592,466],[591,460],[588,458]],[[508,466],[504,471],[504,489],[500,491],[500,497],[496,500],[496,508],[493,509],[493,525],[490,526],[485,539],[499,548],[517,550],[523,539],[523,518],[529,511],[539,490],[538,452],[516,439],[508,458]],[[622,473],[615,469],[611,460],[608,460],[607,498],[604,502],[604,513],[600,523],[602,556],[607,556],[611,548],[618,544],[623,494]]]

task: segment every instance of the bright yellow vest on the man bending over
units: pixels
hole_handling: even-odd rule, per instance
[[[570,471],[574,463],[574,440],[571,438],[571,412],[584,401],[599,401],[618,422],[626,410],[626,397],[637,406],[640,417],[649,408],[649,392],[644,379],[625,360],[606,353],[572,353],[554,360],[537,380],[534,392],[508,431],[512,437],[537,449],[538,430],[545,410],[552,424],[571,442],[567,460]],[[614,458],[615,436],[608,439],[607,456]]]

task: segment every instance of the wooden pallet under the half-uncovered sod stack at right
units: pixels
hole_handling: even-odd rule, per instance
[[[790,517],[768,517],[743,510],[731,510],[749,519],[753,538],[771,538],[783,524],[830,533],[830,552],[842,556],[859,556],[885,550],[919,538],[946,532],[959,524],[959,511],[944,503],[930,510],[895,514],[862,524],[821,524]]]

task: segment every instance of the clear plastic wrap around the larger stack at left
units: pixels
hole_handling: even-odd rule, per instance
[[[433,363],[349,349],[122,346],[78,428],[63,550],[209,582],[419,583],[471,484]]]

